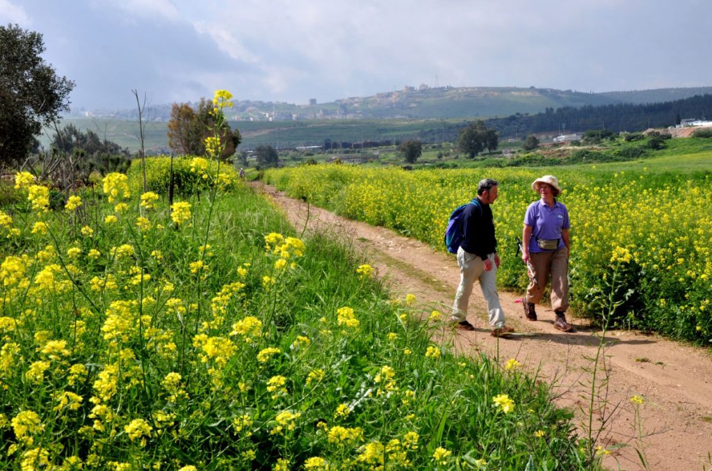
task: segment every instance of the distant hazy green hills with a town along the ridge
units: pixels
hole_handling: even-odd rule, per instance
[[[609,93],[580,93],[552,88],[467,87],[426,88],[378,93],[370,97],[345,98],[332,103],[294,105],[236,100],[230,109],[230,125],[243,135],[241,149],[269,144],[278,148],[323,145],[324,140],[360,143],[365,140],[424,142],[453,141],[458,125],[474,118],[535,115],[562,107],[663,102],[688,98],[707,88],[661,88]],[[135,112],[133,112],[135,114]],[[170,107],[147,110],[145,147],[150,154],[169,152],[167,120]],[[127,110],[114,115],[66,118],[61,125],[90,129],[132,152],[139,149],[137,118]],[[553,128],[556,128],[554,125]],[[505,133],[516,135],[515,132]],[[521,133],[518,133],[521,134]],[[40,138],[48,147],[49,137]]]

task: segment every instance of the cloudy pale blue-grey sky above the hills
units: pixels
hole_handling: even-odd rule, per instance
[[[711,0],[0,0],[9,23],[43,34],[74,109],[712,85]]]

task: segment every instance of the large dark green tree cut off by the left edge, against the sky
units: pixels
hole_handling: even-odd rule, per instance
[[[36,147],[36,135],[69,110],[74,82],[58,77],[41,58],[41,33],[0,26],[0,162],[21,162]]]

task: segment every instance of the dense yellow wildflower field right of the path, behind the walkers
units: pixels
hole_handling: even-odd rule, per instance
[[[572,306],[596,319],[611,291],[615,324],[712,342],[712,177],[575,167],[547,170],[562,184],[571,217]],[[493,205],[498,283],[523,290],[515,255],[531,183],[541,170],[414,170],[313,165],[268,170],[266,179],[292,197],[370,224],[389,227],[444,250],[450,212],[476,196],[479,180],[498,180]],[[616,286],[611,276],[617,269]]]

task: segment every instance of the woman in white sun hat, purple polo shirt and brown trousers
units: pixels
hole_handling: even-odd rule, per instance
[[[524,314],[530,321],[537,320],[535,305],[541,301],[551,279],[551,307],[556,313],[554,328],[569,332],[573,328],[565,316],[569,307],[569,212],[556,200],[561,188],[553,175],[534,180],[532,188],[541,199],[529,205],[524,214],[522,259],[530,262],[534,271],[524,297]]]

